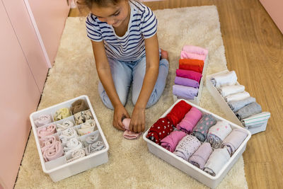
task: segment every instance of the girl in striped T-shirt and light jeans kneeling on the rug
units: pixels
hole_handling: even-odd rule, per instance
[[[158,51],[157,20],[150,8],[131,0],[79,0],[91,13],[86,30],[91,39],[103,103],[114,109],[113,126],[125,130],[123,118],[132,84],[134,110],[129,130],[144,131],[145,108],[161,96],[168,75],[168,52]],[[161,56],[161,58],[160,58]]]

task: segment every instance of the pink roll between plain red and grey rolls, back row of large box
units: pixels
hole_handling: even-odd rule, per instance
[[[197,122],[200,120],[200,118],[202,118],[202,112],[192,106],[183,120],[177,125],[177,129],[190,134],[195,125],[197,125]]]

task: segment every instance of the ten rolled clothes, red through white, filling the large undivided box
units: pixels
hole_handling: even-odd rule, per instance
[[[180,101],[157,120],[146,137],[212,176],[224,167],[248,132]]]

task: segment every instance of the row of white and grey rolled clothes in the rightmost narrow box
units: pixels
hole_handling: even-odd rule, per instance
[[[262,113],[261,106],[245,91],[245,86],[237,84],[235,71],[217,74],[211,81],[244,127],[253,128],[266,124],[270,113]]]

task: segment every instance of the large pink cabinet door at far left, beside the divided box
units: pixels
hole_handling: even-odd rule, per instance
[[[13,188],[40,91],[2,0],[0,25],[0,185]]]

